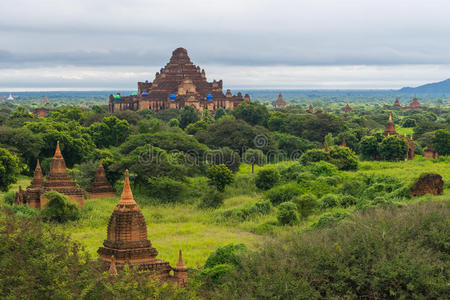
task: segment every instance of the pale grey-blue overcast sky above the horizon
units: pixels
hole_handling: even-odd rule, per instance
[[[225,88],[450,77],[448,0],[1,0],[0,89],[134,89],[184,47]]]

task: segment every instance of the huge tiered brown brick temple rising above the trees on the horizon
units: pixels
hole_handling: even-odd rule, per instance
[[[109,96],[109,112],[149,109],[160,111],[169,108],[182,109],[192,106],[197,111],[232,109],[250,96],[241,93],[223,93],[222,80],[208,82],[204,69],[192,63],[187,50],[177,48],[169,63],[156,73],[153,82],[138,82],[138,91],[130,96]]]

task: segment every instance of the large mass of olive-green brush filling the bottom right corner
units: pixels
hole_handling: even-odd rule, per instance
[[[278,237],[243,256],[207,298],[447,299],[449,208],[448,201],[376,208]]]

